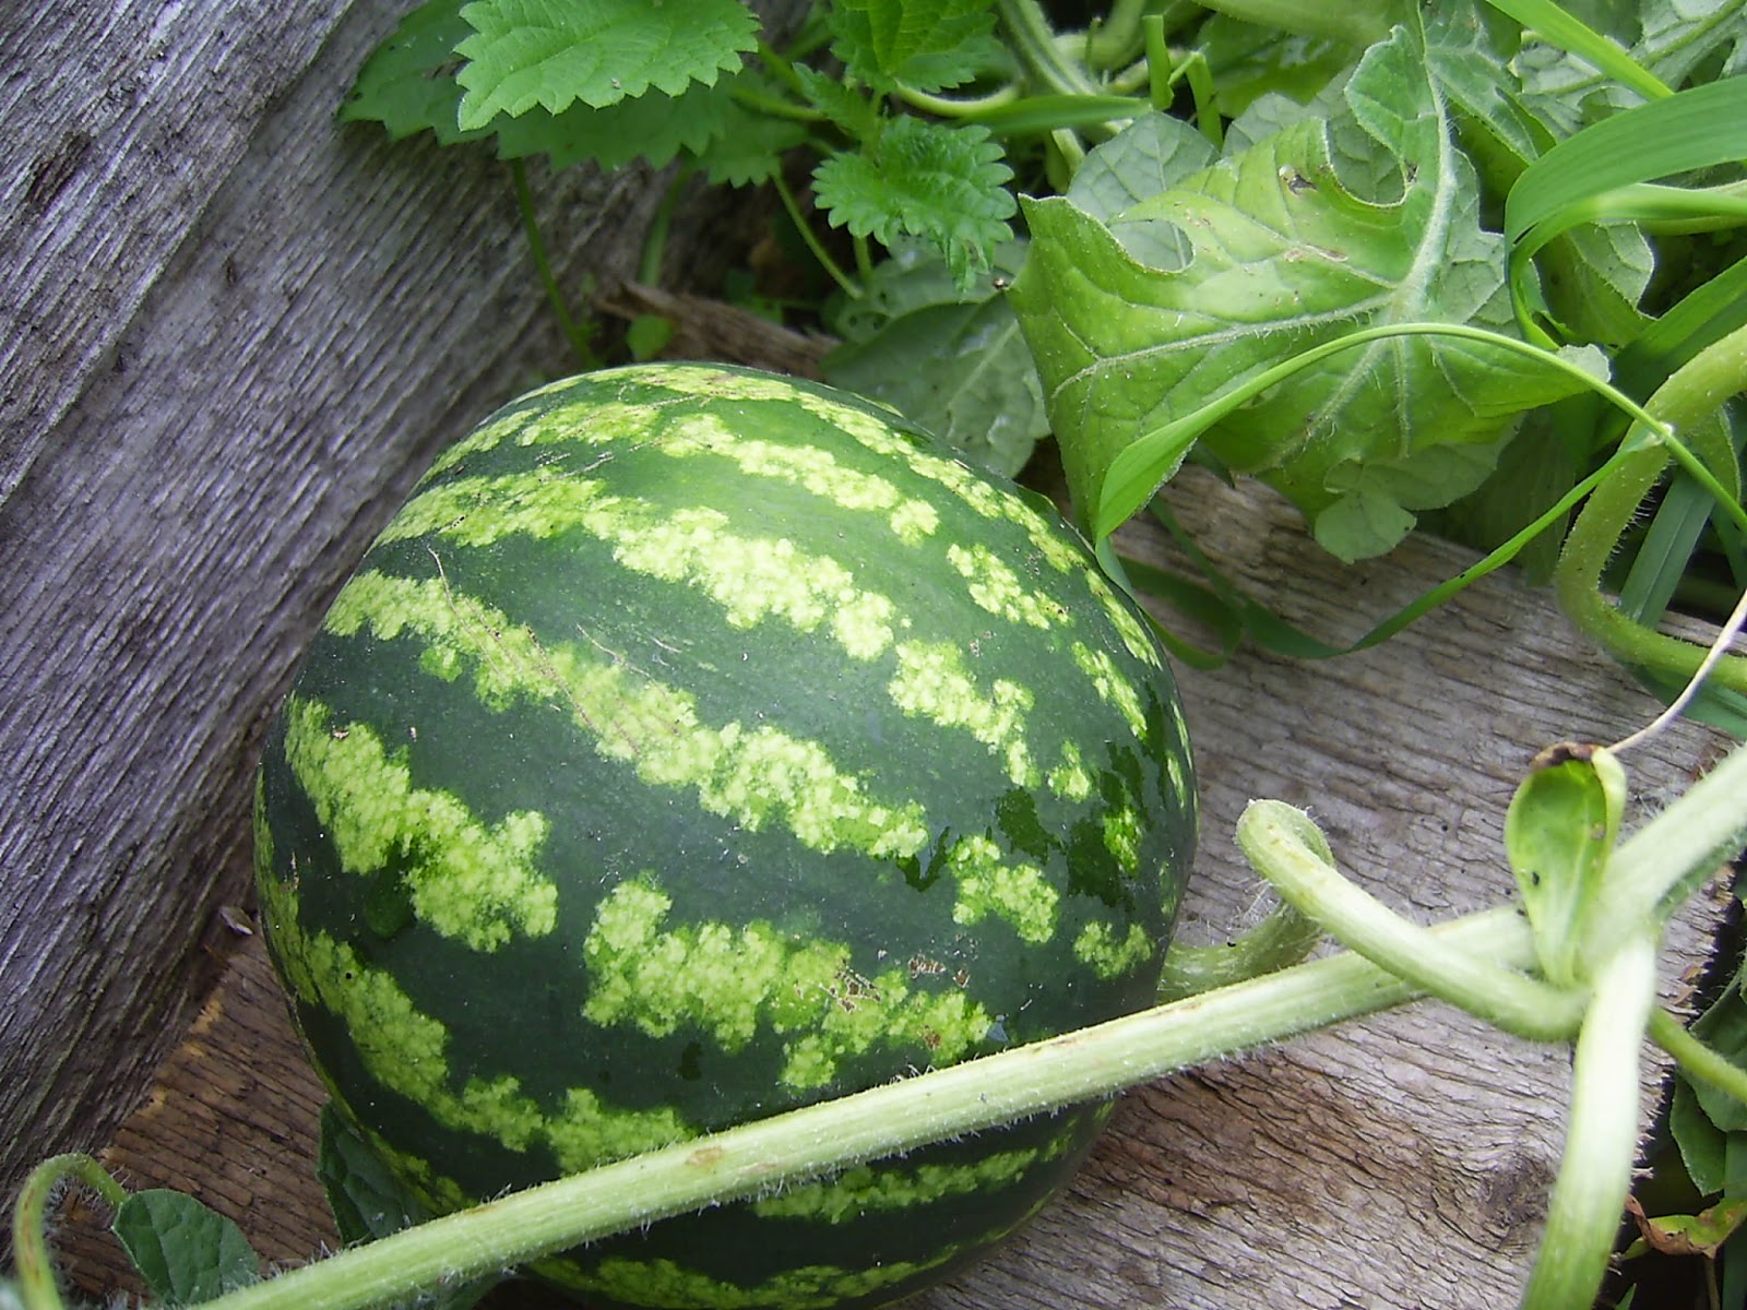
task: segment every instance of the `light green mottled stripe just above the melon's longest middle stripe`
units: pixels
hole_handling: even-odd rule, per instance
[[[613,559],[648,578],[694,587],[734,627],[777,618],[800,632],[825,625],[858,660],[893,641],[891,597],[854,585],[854,575],[825,555],[809,555],[783,536],[728,531],[722,510],[659,505],[603,494],[601,482],[559,468],[456,479],[414,496],[381,541],[445,536],[484,547],[507,536],[535,540],[580,529],[610,545]]]

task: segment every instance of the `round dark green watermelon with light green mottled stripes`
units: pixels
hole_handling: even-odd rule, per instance
[[[1151,1003],[1195,842],[1141,611],[1053,507],[769,374],[575,377],[442,454],[257,783],[334,1104],[435,1210]],[[540,1261],[863,1307],[1071,1176],[1071,1107]]]

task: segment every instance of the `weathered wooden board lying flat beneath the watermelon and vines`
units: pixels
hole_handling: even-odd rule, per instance
[[[1254,487],[1233,493],[1191,473],[1174,501],[1233,576],[1329,641],[1356,638],[1469,559],[1415,538],[1345,569]],[[1157,531],[1125,531],[1123,548],[1181,566]],[[1433,920],[1508,894],[1501,823],[1536,749],[1612,741],[1654,713],[1544,594],[1506,578],[1361,655],[1293,662],[1246,650],[1223,669],[1179,676],[1205,814],[1181,927],[1190,940],[1258,914],[1230,838],[1253,796],[1309,805],[1354,875]],[[1633,753],[1639,795],[1654,803],[1714,748],[1681,727]],[[1716,908],[1695,905],[1674,934],[1670,996],[1703,959]],[[1509,1305],[1558,1158],[1567,1058],[1426,1003],[1137,1088],[1066,1196],[914,1307]],[[196,1038],[112,1160],[140,1184],[192,1184],[288,1259],[330,1240],[307,1174],[314,1095],[259,941],[243,938]],[[225,1167],[206,1177],[211,1158]],[[105,1251],[89,1233],[73,1247],[98,1284],[114,1277]],[[494,1301],[547,1303],[528,1287]]]

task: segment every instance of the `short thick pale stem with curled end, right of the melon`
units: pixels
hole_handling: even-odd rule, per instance
[[[1480,1018],[1534,1041],[1564,1041],[1588,997],[1450,947],[1342,877],[1310,817],[1279,800],[1253,800],[1237,844],[1282,900],[1342,945]]]

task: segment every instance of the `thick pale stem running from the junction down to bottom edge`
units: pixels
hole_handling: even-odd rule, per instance
[[[1639,1064],[1656,999],[1656,945],[1626,941],[1595,978],[1572,1060],[1565,1155],[1523,1310],[1595,1303],[1632,1186],[1640,1134]]]

